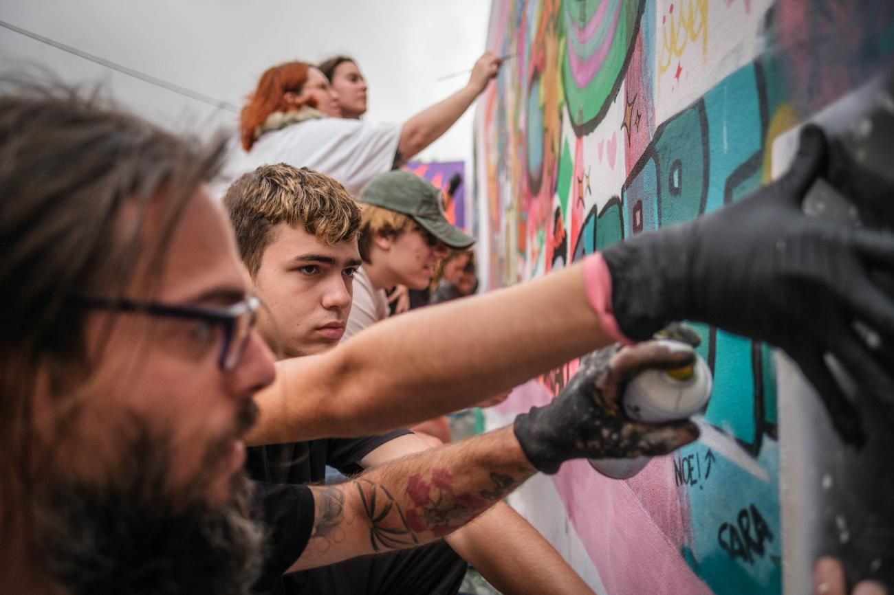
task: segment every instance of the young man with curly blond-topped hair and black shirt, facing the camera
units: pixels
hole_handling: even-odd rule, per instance
[[[223,202],[254,290],[266,305],[257,330],[267,344],[288,357],[335,347],[361,274],[361,218],[354,199],[322,173],[279,163],[243,175]],[[326,465],[354,474],[427,448],[426,440],[406,430],[310,440],[249,448],[248,469],[263,482],[319,483],[325,481]],[[506,504],[497,504],[445,541],[286,575],[282,589],[287,594],[452,593],[468,566],[462,556],[503,593],[592,592]]]

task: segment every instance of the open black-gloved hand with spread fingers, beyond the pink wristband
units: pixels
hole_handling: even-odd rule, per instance
[[[869,267],[894,270],[894,237],[801,211],[820,172],[825,138],[801,133],[791,169],[736,204],[641,234],[603,252],[621,331],[645,339],[673,320],[694,320],[783,348],[820,392],[842,436],[862,439],[859,417],[823,361],[834,355],[860,388],[891,407],[894,376],[877,343],[894,338],[894,302]]]

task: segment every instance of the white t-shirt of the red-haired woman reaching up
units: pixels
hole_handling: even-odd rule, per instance
[[[309,167],[342,182],[354,197],[369,180],[388,172],[401,140],[401,124],[322,118],[266,132],[246,153],[233,147],[223,168],[223,191],[259,165]]]

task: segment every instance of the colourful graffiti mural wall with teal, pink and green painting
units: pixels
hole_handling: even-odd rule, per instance
[[[487,47],[507,57],[477,108],[469,215],[493,289],[769,181],[774,139],[890,65],[894,3],[494,0]],[[772,351],[697,328],[715,377],[700,440],[627,482],[577,461],[510,500],[600,593],[782,591]]]

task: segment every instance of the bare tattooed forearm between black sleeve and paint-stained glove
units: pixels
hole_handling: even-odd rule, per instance
[[[314,529],[290,571],[442,539],[534,473],[512,429],[503,428],[311,488]]]

